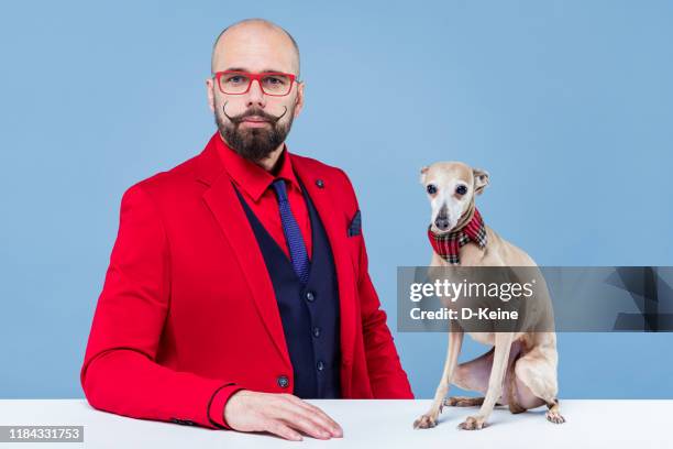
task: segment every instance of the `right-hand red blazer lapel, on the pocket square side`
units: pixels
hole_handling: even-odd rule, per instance
[[[340,195],[336,191],[334,185],[326,182],[320,175],[316,174],[306,163],[299,158],[293,157],[293,167],[297,176],[302,180],[308,194],[316,206],[316,210],[320,216],[320,220],[324,226],[326,232],[330,240],[330,247],[332,248],[332,255],[334,256],[334,265],[336,267],[336,284],[339,288],[339,303],[341,314],[341,353],[343,362],[347,369],[352,366],[353,351],[355,348],[355,327],[357,322],[357,310],[355,308],[355,273],[353,270],[353,263],[351,261],[349,242],[346,241],[346,227],[345,225],[335,219],[334,205],[339,204],[336,196]],[[322,185],[318,187],[318,182]],[[346,379],[349,376],[346,375]],[[342,382],[346,379],[342,379]]]

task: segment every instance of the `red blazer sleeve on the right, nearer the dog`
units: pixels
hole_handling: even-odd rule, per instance
[[[347,175],[340,169],[352,195],[354,210],[358,210],[357,198]],[[387,315],[380,309],[380,302],[368,272],[367,250],[362,233],[360,247],[360,273],[357,292],[362,314],[362,329],[369,383],[375,398],[412,399],[413,393],[401,368],[393,335],[386,325]]]

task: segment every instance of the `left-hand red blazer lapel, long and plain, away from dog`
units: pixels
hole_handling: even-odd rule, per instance
[[[216,134],[214,138],[219,139],[219,135]],[[224,167],[217,153],[217,146],[212,140],[199,157],[199,180],[210,186],[203,194],[203,200],[214,215],[236,255],[257,307],[257,313],[264,321],[271,339],[287,365],[291,366],[283,331],[283,321],[278,313],[274,287],[265,269],[264,256],[256,244],[255,234],[231,180],[223,169]]]

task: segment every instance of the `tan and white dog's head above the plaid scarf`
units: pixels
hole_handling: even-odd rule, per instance
[[[488,185],[488,173],[462,162],[437,162],[421,168],[420,182],[432,206],[432,232],[446,233]]]

